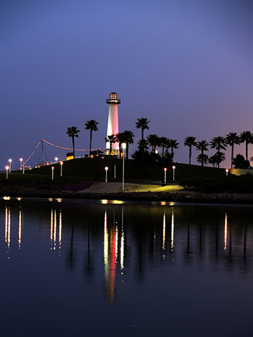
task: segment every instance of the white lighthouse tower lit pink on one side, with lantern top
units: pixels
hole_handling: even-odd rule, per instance
[[[107,134],[106,136],[111,136],[112,134],[117,134],[119,132],[119,119],[118,119],[118,104],[120,104],[121,100],[118,99],[118,94],[116,92],[111,92],[109,95],[109,99],[107,98],[106,103],[109,104],[108,110],[108,121],[107,121]],[[112,153],[110,153],[110,143],[106,143],[106,155],[118,155],[119,144],[112,144]]]

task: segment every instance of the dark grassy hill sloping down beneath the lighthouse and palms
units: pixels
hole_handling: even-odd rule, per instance
[[[105,167],[108,166],[108,181],[122,180],[122,163],[121,159],[105,158],[105,159],[89,159],[77,158],[75,160],[64,161],[60,177],[60,164],[41,166],[32,170],[22,172],[16,171],[9,174],[8,184],[16,182],[42,182],[51,181],[52,166],[54,166],[54,180],[64,181],[104,181]],[[204,177],[204,178],[222,178],[226,175],[224,168],[201,167],[199,165],[174,163],[175,180],[181,180],[189,177]],[[114,165],[116,165],[116,179],[114,179]],[[167,166],[166,180],[172,182],[173,170],[172,165]],[[5,181],[5,174],[1,174],[2,183]],[[154,168],[151,165],[144,166],[142,174],[141,167],[135,160],[125,160],[125,180],[129,182],[148,182],[148,181],[163,181],[164,171],[161,164],[156,163]]]

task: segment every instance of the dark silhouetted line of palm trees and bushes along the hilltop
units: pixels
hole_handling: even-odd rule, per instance
[[[176,139],[170,139],[166,136],[158,136],[157,134],[148,134],[144,136],[144,131],[149,129],[150,121],[146,117],[138,118],[135,122],[135,127],[141,129],[141,137],[137,138],[138,147],[137,150],[131,155],[133,159],[137,162],[140,162],[142,171],[144,165],[152,165],[154,167],[156,162],[161,163],[161,166],[169,165],[174,162],[174,151],[178,149],[179,143]],[[90,130],[89,138],[89,155],[92,153],[91,142],[92,142],[92,132],[97,131],[97,125],[99,123],[95,120],[88,120],[85,123],[85,129]],[[75,149],[75,137],[78,137],[77,127],[72,126],[67,128],[67,134],[72,138],[72,146]],[[122,157],[122,145],[125,144],[125,158],[129,158],[129,146],[132,145],[135,141],[135,135],[131,130],[125,130],[117,134],[107,135],[105,137],[105,142],[110,144],[109,153],[112,154],[112,144],[119,144],[119,158]],[[245,143],[245,157],[242,154],[237,154],[234,157],[234,147]],[[209,142],[206,140],[197,141],[194,136],[187,136],[184,139],[184,146],[189,147],[189,160],[188,163],[191,165],[192,160],[192,151],[195,148],[196,151],[200,153],[197,155],[196,160],[201,166],[206,166],[207,164],[212,165],[213,167],[220,167],[220,164],[226,159],[224,150],[227,147],[231,148],[231,168],[248,168],[250,167],[250,161],[248,158],[248,147],[249,144],[253,144],[253,133],[250,131],[243,131],[241,134],[236,132],[229,132],[226,136],[215,136]],[[150,151],[149,151],[150,148]],[[160,149],[157,150],[157,148]],[[212,156],[206,154],[209,149],[214,149],[216,152]],[[75,158],[75,150],[73,150],[73,155]],[[104,154],[101,150],[96,150],[96,155],[103,157]],[[250,158],[252,160],[253,158]]]

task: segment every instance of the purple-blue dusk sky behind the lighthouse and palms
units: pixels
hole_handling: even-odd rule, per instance
[[[68,126],[81,130],[76,148],[88,149],[89,119],[99,122],[92,147],[103,148],[111,91],[121,99],[119,130],[139,137],[135,121],[147,117],[145,135],[180,143],[178,162],[188,162],[188,135],[209,141],[253,131],[252,7],[244,0],[2,0],[0,170],[8,158],[18,167],[41,138],[71,147]],[[65,158],[64,150],[45,151]],[[244,145],[236,153],[245,155]],[[226,156],[223,167],[230,149]]]

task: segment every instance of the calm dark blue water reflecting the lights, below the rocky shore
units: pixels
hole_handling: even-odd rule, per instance
[[[252,210],[2,200],[1,335],[252,336]]]

